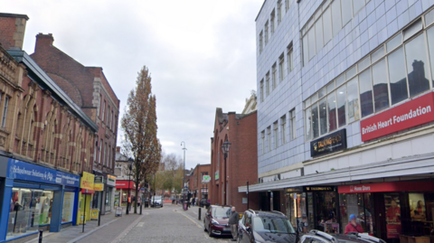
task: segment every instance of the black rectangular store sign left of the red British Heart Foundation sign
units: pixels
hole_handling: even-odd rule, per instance
[[[310,155],[316,157],[322,154],[334,153],[346,148],[346,129],[323,136],[310,142]]]

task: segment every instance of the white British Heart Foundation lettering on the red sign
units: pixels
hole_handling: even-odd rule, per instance
[[[415,110],[410,109],[410,111],[408,113],[405,113],[403,115],[393,116],[388,120],[377,122],[377,124],[372,124],[372,125],[362,127],[362,134],[363,135],[369,134],[369,133],[375,132],[377,130],[380,130],[382,128],[385,128],[387,126],[392,126],[394,124],[398,124],[398,123],[406,121],[406,120],[414,119],[416,117],[420,117],[421,115],[425,115],[425,114],[430,113],[430,112],[432,112],[431,106],[418,107]]]

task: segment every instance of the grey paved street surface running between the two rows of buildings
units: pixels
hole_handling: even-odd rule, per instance
[[[114,213],[101,216],[85,226],[62,229],[59,233],[44,232],[42,242],[50,243],[131,243],[131,242],[230,242],[231,238],[210,238],[203,230],[205,209],[198,220],[199,207],[184,211],[181,206],[165,204],[161,209],[146,209],[143,214],[129,214],[115,217]],[[26,243],[36,243],[37,238]]]

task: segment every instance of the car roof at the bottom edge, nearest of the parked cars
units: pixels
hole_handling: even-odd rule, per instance
[[[349,233],[342,234],[327,234],[319,230],[310,230],[307,234],[300,238],[299,243],[386,243],[381,238],[374,238],[367,234]]]

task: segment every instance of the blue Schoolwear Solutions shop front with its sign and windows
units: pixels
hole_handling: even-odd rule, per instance
[[[40,229],[58,232],[76,223],[78,175],[14,159],[5,165],[0,165],[6,172],[1,185],[0,242],[26,238]]]

